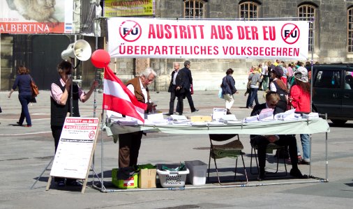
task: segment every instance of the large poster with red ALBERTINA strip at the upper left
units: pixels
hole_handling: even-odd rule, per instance
[[[0,1],[0,33],[73,33],[73,0]]]

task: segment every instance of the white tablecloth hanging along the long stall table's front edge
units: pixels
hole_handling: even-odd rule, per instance
[[[107,135],[128,132],[146,131],[167,134],[315,134],[330,132],[327,121],[322,118],[299,119],[293,121],[266,121],[255,123],[239,123],[233,125],[206,125],[204,127],[190,125],[137,125],[121,126],[116,123],[107,124]]]

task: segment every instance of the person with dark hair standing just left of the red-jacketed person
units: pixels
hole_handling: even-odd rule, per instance
[[[283,69],[280,65],[273,66],[271,70],[271,79],[270,91],[274,91],[280,95],[280,100],[278,101],[277,107],[287,110],[287,101],[288,101],[288,89],[287,85],[280,79],[283,76]]]

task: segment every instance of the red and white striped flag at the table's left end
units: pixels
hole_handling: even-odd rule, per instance
[[[147,104],[139,102],[108,66],[104,69],[103,109],[116,111],[144,123]]]

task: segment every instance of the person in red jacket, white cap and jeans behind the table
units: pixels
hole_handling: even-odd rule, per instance
[[[299,67],[294,72],[295,84],[290,88],[290,102],[295,111],[302,113],[310,112],[310,83],[308,70]],[[310,136],[300,134],[301,146],[303,147],[303,160],[301,164],[310,164]],[[298,152],[299,153],[299,152]],[[298,154],[300,155],[300,153]]]

